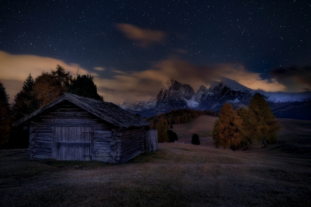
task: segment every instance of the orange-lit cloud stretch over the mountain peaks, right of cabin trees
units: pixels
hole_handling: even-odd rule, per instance
[[[126,99],[156,97],[162,83],[171,78],[190,84],[197,91],[201,85],[208,88],[212,81],[221,81],[222,77],[236,80],[255,90],[286,91],[286,86],[275,79],[261,79],[260,74],[249,72],[242,65],[196,66],[180,60],[160,61],[150,70],[132,74],[119,73],[113,79],[98,77],[95,81],[105,101],[122,103]]]

